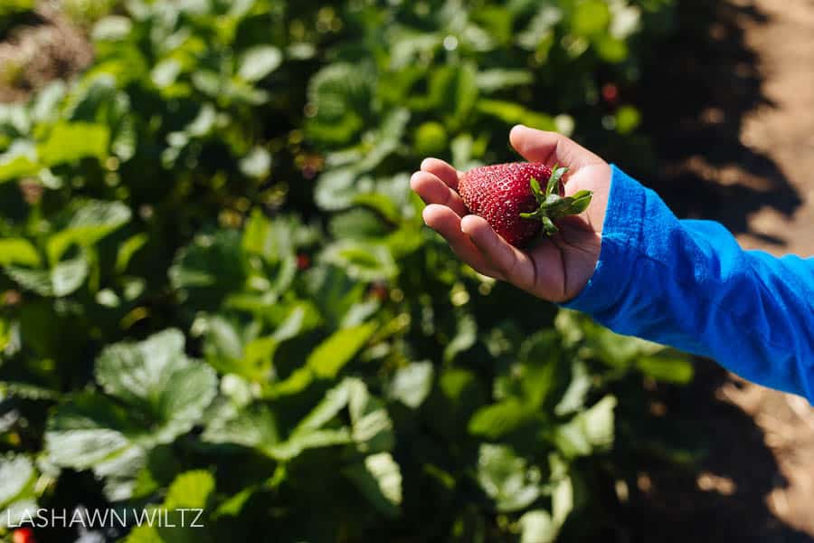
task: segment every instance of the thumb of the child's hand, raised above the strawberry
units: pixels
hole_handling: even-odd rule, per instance
[[[556,132],[517,125],[509,133],[509,141],[530,162],[543,162],[549,166],[556,163],[572,170],[601,162],[600,157]]]

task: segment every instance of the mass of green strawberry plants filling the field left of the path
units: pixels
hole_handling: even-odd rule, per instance
[[[653,448],[641,381],[692,367],[461,264],[408,177],[428,153],[512,159],[516,122],[640,148],[635,104],[601,89],[635,84],[669,12],[131,0],[99,20],[78,80],[0,105],[0,519],[204,509],[204,530],[99,533],[130,541],[612,533],[614,481]]]

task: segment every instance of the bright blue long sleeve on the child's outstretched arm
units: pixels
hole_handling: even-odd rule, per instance
[[[599,262],[564,307],[814,403],[814,258],[744,251],[612,171]]]

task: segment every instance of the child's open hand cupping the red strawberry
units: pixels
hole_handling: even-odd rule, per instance
[[[554,132],[516,126],[512,147],[530,162],[568,167],[565,195],[593,192],[588,209],[559,221],[560,232],[541,235],[540,243],[520,251],[506,243],[486,220],[467,209],[458,195],[461,173],[438,158],[427,158],[412,175],[412,189],[427,203],[424,222],[450,243],[461,260],[475,270],[508,281],[535,296],[554,302],[576,297],[591,279],[601,248],[602,223],[608,205],[611,167],[600,157]]]

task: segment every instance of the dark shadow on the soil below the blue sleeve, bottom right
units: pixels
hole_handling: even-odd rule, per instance
[[[631,543],[814,541],[768,508],[768,494],[787,481],[752,417],[715,397],[726,379],[715,363],[698,360],[694,384],[665,398],[672,419],[686,420],[692,433],[704,436],[706,454],[695,470],[658,463],[644,467],[647,491],[631,489],[624,513]],[[702,491],[701,472],[727,482]]]

